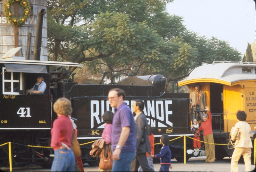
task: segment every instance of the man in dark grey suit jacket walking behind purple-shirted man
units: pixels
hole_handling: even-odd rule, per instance
[[[148,165],[146,152],[151,155],[151,146],[148,138],[148,121],[142,113],[144,102],[135,100],[133,103],[133,112],[136,113],[135,118],[135,135],[136,135],[136,156],[131,164],[131,171],[138,171],[141,166],[143,171],[154,171]]]

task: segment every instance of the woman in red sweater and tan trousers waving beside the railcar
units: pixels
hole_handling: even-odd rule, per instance
[[[215,162],[215,146],[213,141],[213,134],[212,134],[212,114],[209,111],[209,107],[205,106],[205,110],[208,111],[209,119],[207,120],[207,115],[203,114],[202,119],[203,123],[201,124],[198,132],[200,132],[202,129],[204,130],[204,143],[205,145],[205,153],[206,153],[206,160],[205,162],[214,163]],[[213,144],[209,144],[213,143]]]

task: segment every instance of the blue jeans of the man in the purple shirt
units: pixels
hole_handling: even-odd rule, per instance
[[[113,161],[112,171],[131,171],[131,163],[135,157],[135,152],[121,152],[119,160]]]

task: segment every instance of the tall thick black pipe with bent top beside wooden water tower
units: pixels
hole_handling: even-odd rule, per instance
[[[46,14],[46,10],[44,9],[38,12],[33,60],[40,60],[44,14]]]

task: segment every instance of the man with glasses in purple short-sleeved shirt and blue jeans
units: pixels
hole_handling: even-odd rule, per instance
[[[108,92],[110,106],[115,108],[111,144],[113,146],[112,171],[130,171],[135,156],[135,122],[131,109],[124,102],[124,90]]]

